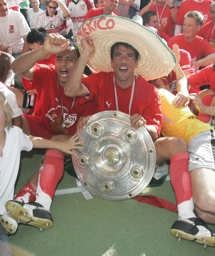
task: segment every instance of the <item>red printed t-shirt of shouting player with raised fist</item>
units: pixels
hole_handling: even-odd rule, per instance
[[[34,65],[32,89],[37,91],[33,116],[50,133],[73,135],[81,116],[97,113],[92,102],[83,104],[79,102],[79,98],[65,96],[64,88],[57,83],[54,65]],[[63,121],[67,123],[67,127],[61,126]]]

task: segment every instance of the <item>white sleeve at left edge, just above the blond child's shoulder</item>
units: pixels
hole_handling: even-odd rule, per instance
[[[19,106],[17,105],[15,94],[11,92],[11,90],[5,87],[1,87],[1,83],[0,83],[0,92],[4,94],[9,106],[11,107],[11,110],[13,111],[13,118],[21,116],[22,109],[19,108]]]

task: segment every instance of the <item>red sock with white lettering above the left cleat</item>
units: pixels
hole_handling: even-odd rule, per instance
[[[23,201],[24,203],[35,201],[36,189],[36,185],[32,183],[26,183],[26,185],[24,185],[24,187],[19,190],[17,195],[15,195],[14,199],[17,201]]]

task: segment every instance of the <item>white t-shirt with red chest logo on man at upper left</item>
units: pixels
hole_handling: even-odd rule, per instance
[[[5,17],[0,17],[0,41],[4,46],[10,46],[13,53],[22,53],[24,39],[30,28],[24,15],[19,11],[8,9]]]

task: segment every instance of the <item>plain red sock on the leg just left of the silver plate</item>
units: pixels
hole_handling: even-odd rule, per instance
[[[40,189],[52,199],[64,171],[64,155],[56,150],[47,150],[40,168]],[[37,191],[38,193],[38,191]]]

